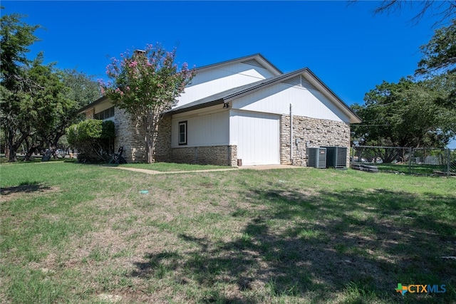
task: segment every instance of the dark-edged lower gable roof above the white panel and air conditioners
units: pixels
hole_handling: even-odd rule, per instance
[[[340,108],[342,112],[344,112],[348,117],[350,117],[351,123],[361,122],[361,118],[358,117],[358,115],[356,115],[356,113],[353,112],[353,110],[351,110],[351,108],[348,107],[348,105],[346,105],[346,103],[344,103],[343,100],[341,100],[341,98],[338,98],[338,96],[335,93],[333,93],[333,91],[330,88],[328,88],[328,86],[325,85],[323,81],[316,77],[316,75],[309,68],[301,68],[290,73],[277,75],[273,78],[259,80],[255,83],[250,83],[248,85],[242,85],[237,88],[225,90],[224,92],[217,93],[206,98],[202,98],[200,100],[195,100],[192,103],[187,103],[185,105],[181,105],[180,107],[168,110],[164,113],[164,115],[174,115],[182,112],[188,112],[191,110],[207,108],[212,105],[221,105],[222,103],[229,103],[230,100],[240,98],[244,95],[248,95],[257,90],[260,90],[261,88],[266,88],[270,85],[284,82],[286,80],[296,77],[297,75],[302,74],[309,75],[309,82],[312,85],[314,85],[314,87],[316,87],[318,90],[321,90],[323,93],[326,93],[324,95],[333,100],[333,102],[336,103],[336,106],[338,106],[338,108]]]

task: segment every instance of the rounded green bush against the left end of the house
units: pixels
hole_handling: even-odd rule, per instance
[[[68,144],[78,150],[80,162],[106,162],[114,145],[114,122],[83,120],[67,129]]]

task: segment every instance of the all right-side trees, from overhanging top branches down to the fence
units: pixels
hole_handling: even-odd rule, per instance
[[[452,19],[421,46],[415,75],[398,83],[383,81],[366,93],[363,105],[351,106],[363,120],[352,125],[353,145],[445,147],[456,137],[456,2],[383,1],[375,12],[403,9],[406,4],[420,6],[415,21],[429,9]]]

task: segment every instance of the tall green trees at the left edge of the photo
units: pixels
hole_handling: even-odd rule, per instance
[[[29,59],[28,47],[38,41],[34,33],[41,26],[23,18],[0,19],[0,140],[11,162],[22,147],[25,160],[36,150],[56,149],[66,128],[82,119],[78,109],[101,96],[88,75],[43,64],[43,53]]]

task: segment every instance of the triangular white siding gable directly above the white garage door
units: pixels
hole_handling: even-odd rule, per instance
[[[317,90],[308,90],[284,83],[272,85],[237,100],[232,108],[255,112],[289,114],[290,103],[293,114],[305,117],[349,122],[349,117]]]

